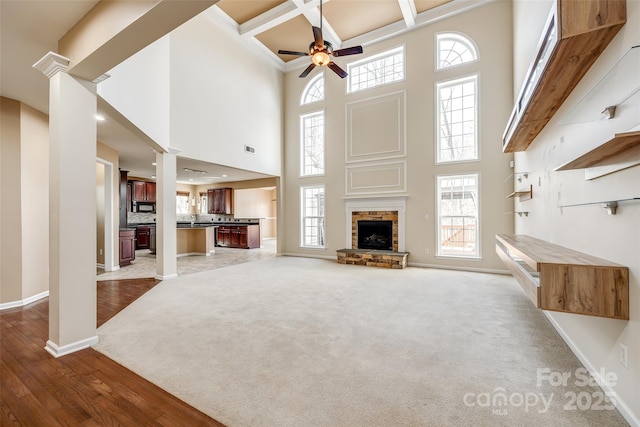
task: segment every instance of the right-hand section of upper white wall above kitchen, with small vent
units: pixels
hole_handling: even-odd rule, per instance
[[[179,155],[280,175],[282,73],[205,14],[170,39],[171,144]]]

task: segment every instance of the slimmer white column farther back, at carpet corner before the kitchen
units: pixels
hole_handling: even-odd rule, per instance
[[[156,279],[178,276],[176,235],[176,154],[156,153]]]

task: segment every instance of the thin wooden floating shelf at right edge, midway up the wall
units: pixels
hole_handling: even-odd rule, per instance
[[[628,164],[633,161],[640,164],[640,131],[617,133],[604,144],[555,170],[585,169],[613,164]],[[630,166],[633,165],[626,167]]]

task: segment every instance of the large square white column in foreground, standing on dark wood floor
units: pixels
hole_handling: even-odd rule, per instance
[[[49,52],[34,67],[49,77],[49,340],[63,356],[96,335],[96,84],[67,74]]]

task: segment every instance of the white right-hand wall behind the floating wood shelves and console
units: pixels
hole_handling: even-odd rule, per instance
[[[545,2],[516,1],[539,7],[540,13],[514,14],[516,51],[534,52],[521,41],[537,38],[537,27],[528,22],[543,18]],[[608,70],[631,48],[640,43],[640,2],[628,1],[627,23],[601,57],[584,76],[560,110],[525,152],[516,153],[516,169],[531,172],[534,198],[527,202],[532,213],[516,218],[516,231],[629,267],[630,320],[612,320],[565,313],[548,315],[572,346],[581,361],[596,371],[617,375],[613,387],[623,415],[632,424],[640,423],[640,203],[621,204],[617,215],[607,215],[600,201],[640,197],[640,167],[636,166],[595,180],[586,181],[584,171],[554,172],[554,169],[608,141],[617,132],[639,123],[640,94],[622,104],[613,120],[567,123],[568,113]],[[540,22],[539,22],[540,23]],[[541,25],[541,24],[540,24]],[[540,26],[541,28],[541,26]],[[528,60],[523,55],[519,61]],[[517,64],[520,68],[522,64]],[[637,74],[636,74],[637,75]],[[629,88],[634,84],[629,82]],[[585,106],[604,109],[598,100]],[[593,203],[561,207],[568,204]],[[629,367],[619,361],[619,344],[628,347]]]

